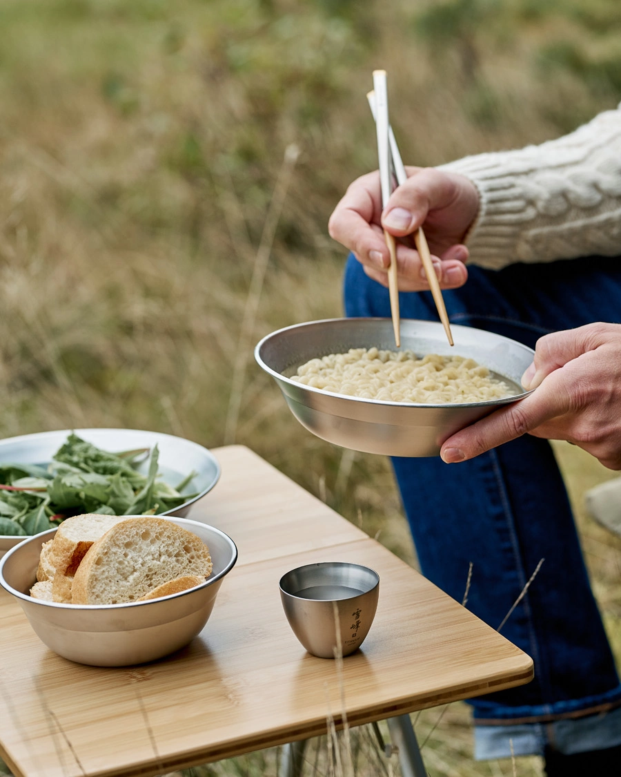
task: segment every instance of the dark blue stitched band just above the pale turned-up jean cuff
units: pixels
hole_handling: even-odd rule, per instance
[[[477,726],[520,726],[522,723],[554,723],[557,720],[578,719],[621,706],[621,685],[612,691],[553,702],[539,706],[507,707],[483,699],[472,699],[474,723]]]

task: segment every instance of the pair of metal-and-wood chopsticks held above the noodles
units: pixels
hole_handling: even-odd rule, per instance
[[[382,207],[386,207],[390,195],[393,193],[393,173],[397,179],[397,186],[401,186],[402,183],[408,179],[408,174],[405,172],[403,161],[401,160],[401,154],[397,146],[397,141],[394,139],[394,133],[392,127],[390,127],[390,121],[388,119],[388,90],[386,83],[386,71],[375,70],[373,71],[373,92],[369,92],[366,96],[369,100],[369,106],[375,119],[376,133],[377,133],[377,155],[380,162],[380,186],[382,190]],[[394,236],[390,235],[385,229],[383,231],[386,245],[390,251],[390,267],[388,268],[388,292],[390,294],[390,312],[393,319],[394,340],[397,343],[397,348],[401,347],[401,327],[400,327],[400,314],[399,314],[399,293],[397,289],[397,246],[395,244]],[[440,290],[440,284],[438,277],[435,274],[435,270],[432,263],[432,256],[429,253],[427,240],[425,239],[425,232],[422,231],[422,227],[418,227],[418,230],[414,234],[414,242],[418,254],[421,257],[422,266],[425,267],[425,274],[429,283],[429,288],[432,292],[433,301],[435,307],[438,309],[438,315],[446,337],[449,340],[449,344],[453,345],[453,335],[451,334],[451,328],[449,325],[449,316],[446,315],[446,307],[444,300],[442,299],[442,291]]]

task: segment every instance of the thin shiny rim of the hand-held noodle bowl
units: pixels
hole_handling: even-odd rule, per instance
[[[306,383],[298,383],[297,381],[291,380],[291,378],[287,378],[286,375],[283,375],[281,372],[276,372],[276,370],[273,370],[271,367],[269,367],[268,364],[265,364],[265,361],[263,361],[260,350],[262,346],[268,341],[271,340],[272,337],[275,337],[276,335],[282,334],[286,332],[289,329],[304,329],[305,326],[312,326],[314,324],[330,324],[333,322],[339,322],[339,321],[352,321],[355,319],[362,319],[364,321],[387,321],[388,319],[382,319],[380,317],[371,317],[371,316],[352,316],[351,319],[321,319],[319,321],[307,321],[301,324],[292,324],[291,326],[283,326],[282,329],[276,329],[274,332],[269,333],[268,335],[265,335],[265,337],[262,337],[261,340],[258,341],[258,343],[255,346],[255,360],[257,361],[258,365],[265,370],[265,372],[269,373],[269,375],[272,375],[272,378],[275,378],[279,381],[284,381],[290,386],[295,386],[298,389],[302,389],[304,391],[313,392],[314,394],[318,394],[321,396],[334,396],[338,397],[338,399],[349,399],[352,402],[362,402],[362,403],[369,403],[372,405],[385,405],[390,407],[428,407],[428,408],[435,408],[435,409],[446,409],[448,407],[450,408],[470,408],[470,407],[494,407],[494,406],[500,406],[500,405],[507,405],[510,402],[517,402],[519,399],[524,399],[526,396],[531,394],[535,389],[530,389],[529,391],[523,391],[521,394],[512,394],[511,396],[505,396],[501,397],[501,399],[488,399],[484,402],[441,402],[439,404],[432,404],[432,402],[389,402],[386,399],[365,399],[361,396],[351,396],[349,394],[337,394],[336,392],[327,392],[324,389],[316,389],[314,386],[309,386]],[[424,319],[401,319],[402,321],[421,321],[422,323],[435,323],[432,321],[425,321]],[[505,337],[504,335],[497,335],[494,332],[487,332],[486,329],[478,329],[475,326],[462,326],[460,324],[452,324],[451,329],[468,329],[470,331],[480,331],[485,332],[486,334],[494,335],[494,337],[498,337],[499,340],[507,340],[509,343],[517,343],[519,346],[524,348],[525,350],[529,350],[533,357],[535,355],[535,351],[532,348],[529,348],[527,345],[524,345],[524,343],[519,343],[518,340],[512,340],[510,337]],[[320,358],[320,357],[317,357]]]

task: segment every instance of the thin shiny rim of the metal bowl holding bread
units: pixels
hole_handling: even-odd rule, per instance
[[[147,516],[144,515],[124,515],[125,518],[144,518]],[[160,515],[154,515],[153,517],[161,517]],[[4,566],[9,559],[9,556],[12,556],[13,553],[18,552],[18,550],[22,547],[22,545],[26,545],[27,542],[33,542],[35,538],[39,537],[46,537],[47,535],[53,535],[56,533],[57,529],[48,529],[47,531],[41,531],[38,535],[30,535],[29,537],[24,537],[23,541],[19,543],[19,545],[16,545],[14,548],[11,548],[5,553],[5,556],[0,559],[0,586],[2,586],[5,591],[8,591],[9,594],[12,594],[18,599],[21,599],[22,601],[26,601],[29,604],[36,604],[36,605],[43,605],[44,607],[52,607],[62,610],[69,610],[71,612],[79,612],[83,610],[96,610],[96,611],[104,611],[104,610],[120,610],[120,609],[127,609],[128,607],[142,607],[143,605],[154,605],[157,604],[162,599],[176,599],[182,596],[186,596],[188,594],[193,594],[195,591],[200,591],[203,588],[209,587],[210,585],[213,585],[213,583],[216,583],[217,580],[221,580],[225,575],[227,575],[233,567],[235,566],[235,563],[238,560],[238,547],[235,545],[234,541],[227,535],[224,531],[221,529],[216,528],[215,526],[211,526],[210,524],[203,524],[201,521],[190,521],[188,518],[177,518],[176,516],[172,516],[168,518],[168,521],[183,521],[182,528],[185,528],[186,524],[190,524],[193,526],[202,526],[209,528],[211,531],[215,531],[216,534],[220,535],[220,537],[224,538],[229,545],[231,546],[231,560],[227,563],[227,565],[224,567],[224,570],[221,570],[217,574],[213,575],[213,577],[208,577],[204,583],[200,583],[197,586],[194,586],[192,588],[188,588],[186,591],[179,591],[179,594],[168,594],[166,597],[161,597],[158,599],[147,599],[147,601],[125,601],[120,602],[118,605],[65,605],[62,604],[60,601],[46,601],[44,599],[35,599],[31,596],[26,596],[26,594],[23,594],[21,591],[17,591],[16,588],[13,588],[10,586],[6,580],[4,575]],[[181,525],[181,524],[179,524]],[[189,530],[188,530],[189,531]]]

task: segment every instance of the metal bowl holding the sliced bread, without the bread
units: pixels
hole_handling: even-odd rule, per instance
[[[61,605],[33,599],[41,545],[56,529],[26,538],[0,560],[0,586],[19,599],[36,635],[59,656],[98,667],[143,664],[187,645],[206,624],[224,577],[237,561],[233,540],[212,526],[171,517],[210,549],[204,584],[162,599],[127,605]]]

